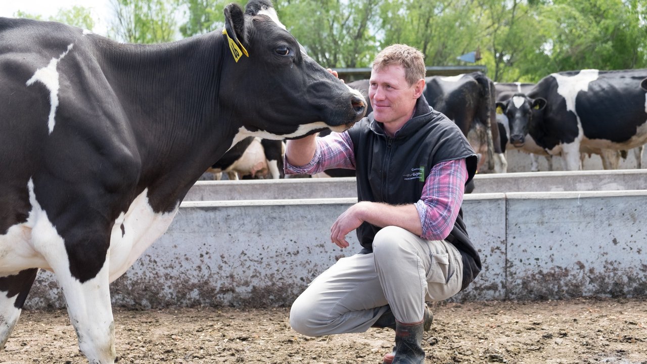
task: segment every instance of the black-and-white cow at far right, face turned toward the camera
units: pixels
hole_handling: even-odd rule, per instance
[[[520,95],[523,102],[513,97],[501,105],[512,143],[521,145],[530,134],[548,154],[562,155],[565,170],[582,168],[582,150],[617,155],[641,147],[647,142],[646,76],[647,69],[550,74]]]

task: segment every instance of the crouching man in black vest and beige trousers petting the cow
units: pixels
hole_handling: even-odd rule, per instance
[[[356,230],[363,247],[308,286],[290,324],[307,336],[392,328],[387,364],[423,363],[422,332],[432,322],[425,301],[452,297],[481,270],[461,212],[477,157],[422,97],[423,58],[407,45],[384,49],[371,70],[373,113],[344,133],[288,141],[285,152],[287,174],[356,170],[358,203],[333,223],[331,240],[343,249]]]

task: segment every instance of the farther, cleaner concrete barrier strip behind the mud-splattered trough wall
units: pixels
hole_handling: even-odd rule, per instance
[[[647,169],[478,174],[474,193],[647,188]],[[184,201],[357,197],[355,177],[198,181]]]

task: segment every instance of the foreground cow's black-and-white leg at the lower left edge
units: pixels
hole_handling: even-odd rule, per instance
[[[38,268],[0,277],[0,350],[5,348],[6,341],[16,326],[36,275]]]

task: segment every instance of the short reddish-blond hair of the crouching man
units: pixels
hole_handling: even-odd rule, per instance
[[[424,54],[406,44],[389,45],[373,60],[375,71],[380,71],[389,65],[401,65],[404,68],[404,78],[409,85],[415,84],[426,75]]]

